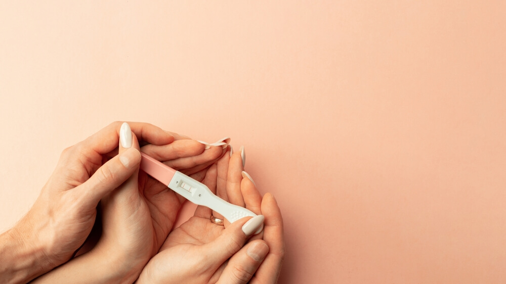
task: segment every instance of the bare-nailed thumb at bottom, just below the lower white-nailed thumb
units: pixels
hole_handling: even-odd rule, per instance
[[[262,240],[248,243],[230,258],[217,283],[247,283],[268,252],[269,247]]]

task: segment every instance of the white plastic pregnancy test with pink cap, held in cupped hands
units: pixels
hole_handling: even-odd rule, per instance
[[[168,188],[171,188],[171,190],[188,199],[192,203],[208,207],[220,213],[230,223],[233,223],[243,217],[257,216],[257,214],[244,207],[228,203],[217,197],[205,184],[196,181],[186,174],[179,172],[144,153],[141,153],[141,156],[141,170],[145,171],[147,174],[165,184]],[[260,227],[256,233],[259,233],[262,229],[263,226]]]

